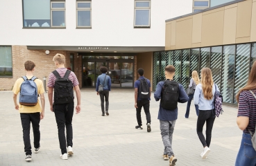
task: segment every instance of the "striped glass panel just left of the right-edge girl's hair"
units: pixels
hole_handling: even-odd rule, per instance
[[[246,86],[250,72],[250,44],[238,44],[236,56],[236,68],[234,75],[234,103],[237,92]]]

